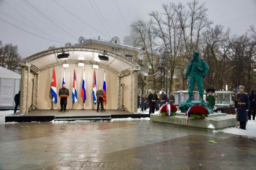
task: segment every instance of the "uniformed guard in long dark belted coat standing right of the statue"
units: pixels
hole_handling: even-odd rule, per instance
[[[247,93],[244,93],[244,86],[239,85],[239,93],[235,95],[235,110],[237,111],[237,121],[240,122],[240,129],[246,130],[246,122],[248,121],[248,111],[250,101]]]

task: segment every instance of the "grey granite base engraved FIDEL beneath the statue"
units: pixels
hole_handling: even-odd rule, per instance
[[[189,119],[188,124],[186,114],[181,112],[176,112],[175,116],[150,114],[150,120],[202,131],[214,131],[236,126],[236,116],[226,113],[210,114],[205,119]]]

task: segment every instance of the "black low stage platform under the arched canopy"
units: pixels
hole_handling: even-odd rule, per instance
[[[40,112],[41,111],[41,112]],[[106,110],[96,112],[94,110],[69,110],[61,113],[59,110],[34,110],[25,116],[20,116],[19,112],[5,117],[5,122],[48,122],[48,121],[74,121],[74,120],[111,120],[112,118],[149,118],[149,114],[130,113],[122,110]]]

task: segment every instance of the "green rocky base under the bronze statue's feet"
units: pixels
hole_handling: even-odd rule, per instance
[[[205,107],[208,111],[209,114],[213,114],[213,110],[211,109],[209,102],[204,101],[203,103],[199,100],[192,100],[191,102],[183,102],[179,108],[181,110],[181,112],[186,113],[189,110],[189,107],[193,106],[193,105],[202,105],[203,107]]]

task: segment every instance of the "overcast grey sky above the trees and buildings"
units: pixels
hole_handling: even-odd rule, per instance
[[[182,0],[182,3],[186,4],[188,1]],[[65,42],[78,43],[80,36],[87,39],[101,36],[106,40],[117,36],[123,43],[123,37],[130,33],[128,26],[132,22],[139,19],[148,20],[149,12],[155,10],[161,12],[162,3],[168,2],[178,3],[179,0],[0,0],[0,19],[46,38],[24,32],[0,20],[0,40],[3,44],[18,45],[22,58],[47,50],[49,46],[64,46]],[[241,35],[249,29],[249,26],[256,26],[256,0],[199,0],[199,2],[206,3],[209,19],[213,20],[214,24],[221,24],[225,29],[230,27],[231,33]]]

